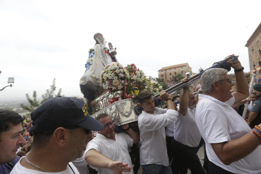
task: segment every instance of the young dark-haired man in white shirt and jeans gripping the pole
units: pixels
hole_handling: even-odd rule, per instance
[[[167,101],[168,109],[155,108],[152,93],[147,90],[138,94],[139,105],[143,107],[138,117],[140,129],[140,164],[144,174],[171,174],[164,127],[173,124],[178,112],[171,97],[165,91],[159,93],[159,99]],[[176,109],[177,110],[177,109]]]

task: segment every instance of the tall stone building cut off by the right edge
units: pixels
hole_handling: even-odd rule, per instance
[[[261,57],[257,51],[257,49],[261,49],[261,23],[248,39],[245,46],[248,48],[249,65],[251,71],[253,68],[261,66]]]

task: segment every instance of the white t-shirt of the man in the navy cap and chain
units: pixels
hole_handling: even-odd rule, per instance
[[[21,159],[23,159],[23,158],[25,158],[25,157],[22,157]],[[26,167],[23,167],[20,164],[21,159],[18,161],[18,163],[16,163],[16,165],[14,166],[14,168],[10,174],[46,174],[46,172],[27,169]],[[73,165],[73,163],[70,162],[69,164],[72,167],[75,174],[80,174],[78,172],[78,170],[76,169],[76,167]],[[69,165],[67,165],[66,170],[64,170],[62,172],[51,172],[50,174],[74,174],[72,169],[69,167]]]

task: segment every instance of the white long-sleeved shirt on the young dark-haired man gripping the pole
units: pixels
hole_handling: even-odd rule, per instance
[[[178,112],[173,109],[155,107],[154,114],[142,111],[138,117],[140,129],[140,164],[159,164],[168,166],[165,128],[177,119]]]

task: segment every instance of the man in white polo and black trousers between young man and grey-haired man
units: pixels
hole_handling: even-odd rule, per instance
[[[185,80],[185,79],[184,79]],[[189,91],[189,86],[184,87],[180,95],[179,116],[174,123],[173,147],[173,174],[191,173],[205,174],[197,155],[197,147],[201,140],[195,121],[196,99]]]

